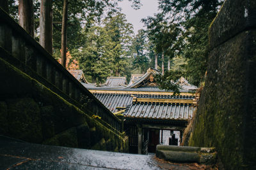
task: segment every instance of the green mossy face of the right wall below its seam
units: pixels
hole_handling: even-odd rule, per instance
[[[246,61],[248,37],[248,32],[241,32],[212,50],[189,139],[190,146],[215,146],[226,169],[246,169],[247,158],[252,162],[255,153],[255,137],[251,131],[255,127],[251,117],[255,109],[251,107],[255,104],[251,102],[256,78],[252,60]],[[246,120],[248,115],[251,118]]]

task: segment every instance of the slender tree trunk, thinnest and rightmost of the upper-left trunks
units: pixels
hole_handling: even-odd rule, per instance
[[[67,60],[67,14],[68,14],[68,0],[63,0],[63,15],[61,27],[61,65],[66,67]]]

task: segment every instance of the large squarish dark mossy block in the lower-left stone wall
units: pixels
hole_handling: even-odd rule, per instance
[[[42,125],[38,104],[31,98],[12,99],[7,104],[10,136],[41,143]]]

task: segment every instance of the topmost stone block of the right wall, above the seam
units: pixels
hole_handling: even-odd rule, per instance
[[[256,1],[225,1],[209,28],[209,45],[214,48],[239,32],[256,27]]]

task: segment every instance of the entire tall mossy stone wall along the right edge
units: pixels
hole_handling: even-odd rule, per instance
[[[225,169],[256,167],[256,1],[227,0],[209,28],[205,87],[190,146],[214,146]]]

